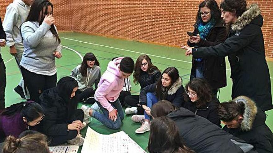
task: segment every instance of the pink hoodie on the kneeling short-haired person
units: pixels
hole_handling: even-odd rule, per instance
[[[108,63],[107,70],[102,74],[94,95],[95,100],[109,112],[114,109],[109,102],[114,102],[119,98],[124,85],[123,77],[119,72],[119,63],[122,59],[123,57],[118,57]]]

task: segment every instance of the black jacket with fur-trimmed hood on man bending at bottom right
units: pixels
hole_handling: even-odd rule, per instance
[[[272,153],[273,134],[265,123],[266,114],[246,96],[239,96],[234,101],[244,109],[243,120],[239,128],[227,128],[225,125],[223,130],[252,144],[259,153]]]

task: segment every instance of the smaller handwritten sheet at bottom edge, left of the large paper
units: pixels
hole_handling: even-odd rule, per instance
[[[79,146],[75,145],[54,146],[49,147],[49,150],[52,151],[52,153],[77,153],[79,150]]]

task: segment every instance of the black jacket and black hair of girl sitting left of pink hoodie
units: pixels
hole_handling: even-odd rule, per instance
[[[45,110],[45,118],[41,122],[42,133],[47,136],[66,135],[69,118],[77,109],[77,98],[70,99],[70,95],[77,85],[71,78],[61,79],[57,87],[47,89],[40,95],[40,104]],[[74,81],[75,83],[72,83]]]

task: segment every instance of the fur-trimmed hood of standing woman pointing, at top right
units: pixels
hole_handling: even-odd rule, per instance
[[[240,31],[250,23],[257,24],[260,27],[262,27],[263,24],[261,9],[256,3],[251,4],[247,10],[238,17],[235,23],[231,26],[231,29],[232,31]]]

